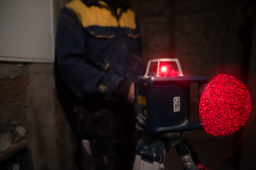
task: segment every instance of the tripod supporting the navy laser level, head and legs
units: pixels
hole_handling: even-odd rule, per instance
[[[186,142],[181,139],[181,132],[154,133],[137,125],[141,139],[137,145],[133,170],[164,170],[166,146],[176,147],[184,169],[197,170]]]

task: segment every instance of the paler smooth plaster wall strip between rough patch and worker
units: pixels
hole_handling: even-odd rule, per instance
[[[26,118],[35,169],[72,169],[73,137],[55,97],[53,64],[31,64],[28,75]]]

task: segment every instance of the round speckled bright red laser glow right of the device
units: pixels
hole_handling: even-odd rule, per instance
[[[251,108],[250,94],[242,81],[218,74],[203,91],[199,115],[210,135],[231,135],[245,125]]]

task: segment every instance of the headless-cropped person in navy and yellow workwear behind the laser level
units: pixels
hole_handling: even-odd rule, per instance
[[[130,169],[134,79],[144,74],[134,12],[119,0],[75,0],[60,12],[56,89],[78,140],[79,169]]]

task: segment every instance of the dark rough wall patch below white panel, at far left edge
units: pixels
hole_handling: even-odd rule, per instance
[[[23,64],[4,64],[0,67],[0,151],[3,152],[25,136],[27,124],[26,86],[29,79]],[[10,70],[9,73],[6,71]],[[21,135],[18,129],[24,130]],[[26,133],[26,132],[25,132]]]

